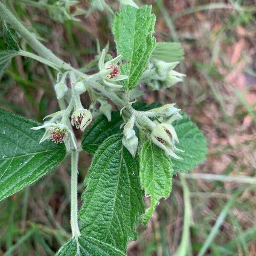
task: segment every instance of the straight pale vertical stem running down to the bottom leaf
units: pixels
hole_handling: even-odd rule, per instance
[[[78,151],[71,152],[71,216],[70,224],[72,236],[81,236],[77,218],[77,173],[78,173]]]

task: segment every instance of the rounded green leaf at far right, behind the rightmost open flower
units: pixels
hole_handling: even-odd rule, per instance
[[[185,113],[182,113],[182,116],[183,119],[172,123],[180,142],[175,145],[177,148],[184,150],[184,152],[175,151],[175,154],[182,157],[183,160],[172,158],[175,172],[187,172],[194,169],[198,163],[205,160],[208,152],[207,142],[202,131]]]

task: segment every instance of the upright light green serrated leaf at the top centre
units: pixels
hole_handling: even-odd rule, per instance
[[[115,37],[118,54],[122,55],[120,69],[122,75],[129,76],[123,80],[125,90],[133,89],[139,82],[148,60],[155,47],[155,15],[151,6],[140,9],[133,6],[121,8],[114,17],[112,32]]]

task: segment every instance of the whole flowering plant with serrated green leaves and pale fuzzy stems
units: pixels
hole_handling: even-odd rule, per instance
[[[51,15],[60,22],[76,20],[76,15],[67,11],[76,3],[57,1],[62,11],[58,15],[52,11]],[[113,15],[117,53],[116,57],[109,55],[109,46],[101,50],[98,43],[98,70],[88,75],[44,47],[0,3],[8,45],[0,52],[2,71],[16,55],[46,64],[55,73],[54,89],[61,106],[60,111],[45,117],[43,125],[0,111],[0,129],[6,131],[4,139],[12,141],[1,149],[6,157],[0,165],[0,200],[34,183],[70,154],[72,237],[58,250],[58,256],[125,255],[128,242],[137,237],[139,221],[147,226],[160,198],[170,195],[172,176],[197,166],[207,153],[202,132],[174,103],[161,106],[136,102],[144,93],[140,84],[159,90],[182,81],[185,75],[174,69],[183,51],[180,44],[156,42],[151,6],[139,8],[126,0],[120,1],[120,7],[113,15],[105,1],[91,1],[87,15],[93,9],[105,9]],[[20,49],[10,27],[38,55]],[[173,54],[174,45],[179,55]],[[91,99],[88,109],[81,103],[84,93]],[[112,111],[113,107],[117,111]],[[84,132],[81,144],[74,129]],[[78,212],[77,176],[82,150],[93,154],[93,160]],[[151,198],[147,209],[144,195]]]

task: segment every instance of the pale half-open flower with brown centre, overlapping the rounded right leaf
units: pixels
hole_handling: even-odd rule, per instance
[[[179,140],[175,128],[171,124],[161,123],[156,125],[153,128],[150,137],[155,145],[166,151],[166,154],[182,160],[181,157],[177,156],[177,154],[174,153],[175,150],[182,150],[175,147],[175,141],[178,143]]]

